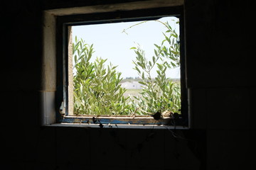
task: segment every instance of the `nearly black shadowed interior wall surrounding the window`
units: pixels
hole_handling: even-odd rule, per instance
[[[254,1],[185,3],[191,130],[40,127],[41,12],[119,2],[1,4],[1,167],[256,169]]]

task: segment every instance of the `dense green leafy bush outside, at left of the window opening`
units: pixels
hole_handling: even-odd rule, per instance
[[[76,115],[122,115],[128,113],[126,91],[119,84],[121,73],[117,66],[108,65],[102,58],[90,62],[93,45],[75,38],[74,55],[74,113]]]

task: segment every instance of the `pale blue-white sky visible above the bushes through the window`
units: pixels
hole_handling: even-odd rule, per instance
[[[160,18],[159,21],[168,21],[170,26],[179,33],[176,17]],[[136,47],[137,44],[145,51],[145,57],[151,60],[154,56],[154,44],[161,45],[164,40],[166,28],[162,23],[156,21],[148,21],[146,23],[134,26],[137,22],[122,22],[122,23],[105,23],[86,26],[73,26],[73,42],[75,36],[78,40],[82,38],[89,45],[93,44],[95,52],[92,55],[91,61],[96,57],[107,59],[106,65],[110,62],[117,67],[117,72],[122,72],[122,77],[139,77],[137,71],[134,70],[132,60],[136,59],[136,54],[131,47]],[[132,28],[129,28],[133,26]],[[127,29],[129,28],[129,29]],[[125,30],[125,33],[123,30]],[[156,69],[151,70],[151,77],[156,77]],[[179,68],[167,69],[166,77],[173,79],[180,78]]]

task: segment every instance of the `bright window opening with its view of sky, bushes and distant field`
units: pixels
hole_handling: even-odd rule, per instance
[[[68,86],[73,90],[69,118],[60,122],[176,124],[181,116],[178,18],[72,26],[71,33]]]

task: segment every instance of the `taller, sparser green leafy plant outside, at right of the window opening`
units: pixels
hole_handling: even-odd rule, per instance
[[[143,85],[143,91],[140,93],[142,96],[136,97],[137,106],[134,106],[134,112],[139,114],[179,113],[181,108],[180,84],[166,78],[166,69],[180,65],[178,35],[169,26],[169,23],[163,24],[167,28],[166,33],[163,33],[164,40],[161,45],[155,44],[156,49],[151,60],[146,60],[141,47],[131,48],[137,55],[136,60],[133,61],[134,69],[142,79],[139,83]],[[151,71],[155,66],[157,67],[157,77],[153,78]]]

